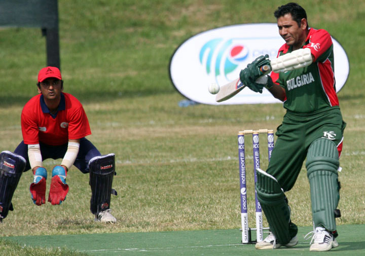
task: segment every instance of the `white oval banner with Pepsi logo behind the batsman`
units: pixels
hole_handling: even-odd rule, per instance
[[[335,78],[339,91],[349,74],[345,50],[335,40]],[[255,93],[244,88],[233,98],[215,102],[208,85],[225,85],[239,77],[241,69],[260,55],[276,58],[285,43],[276,23],[239,24],[201,32],[182,43],[170,61],[170,78],[176,89],[185,97],[204,104],[276,103],[266,89]]]

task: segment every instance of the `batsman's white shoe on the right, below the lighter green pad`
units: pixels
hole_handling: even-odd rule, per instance
[[[322,227],[317,227],[314,230],[313,240],[314,242],[310,246],[309,251],[327,251],[338,246],[335,237]]]

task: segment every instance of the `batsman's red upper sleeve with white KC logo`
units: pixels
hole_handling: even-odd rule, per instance
[[[331,35],[324,29],[316,30],[311,28],[308,36],[310,43],[303,46],[303,48],[309,48],[314,56],[314,61],[316,61],[319,56],[332,46]]]

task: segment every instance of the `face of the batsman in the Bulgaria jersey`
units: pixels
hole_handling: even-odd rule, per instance
[[[307,38],[307,20],[302,19],[301,24],[293,20],[291,14],[285,14],[277,19],[279,34],[285,40],[286,44],[293,46],[293,50],[302,48]]]

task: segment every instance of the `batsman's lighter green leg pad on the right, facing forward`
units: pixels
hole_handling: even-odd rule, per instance
[[[340,200],[339,165],[337,147],[332,140],[319,138],[312,142],[308,149],[306,167],[314,227],[336,230],[335,214]]]

